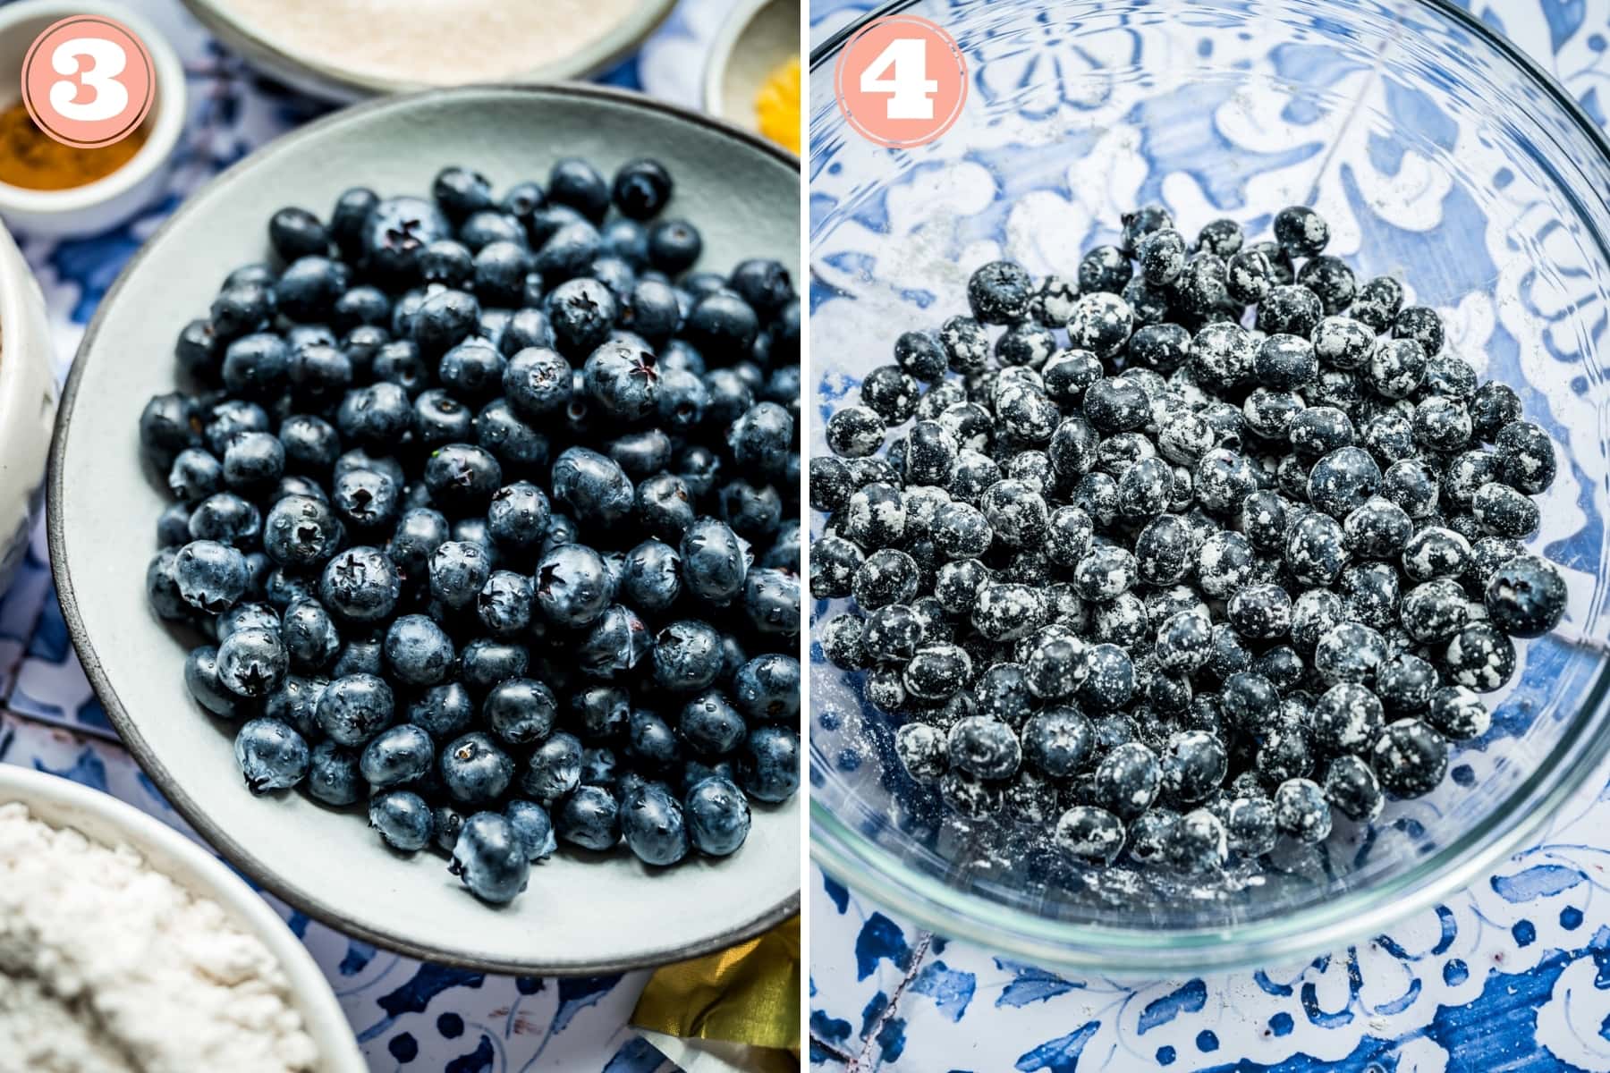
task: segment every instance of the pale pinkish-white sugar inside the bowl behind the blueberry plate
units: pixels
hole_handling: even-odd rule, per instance
[[[536,71],[615,29],[639,0],[219,0],[280,51],[383,82],[462,85]]]

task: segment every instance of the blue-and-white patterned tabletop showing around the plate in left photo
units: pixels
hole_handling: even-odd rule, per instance
[[[18,235],[53,320],[66,376],[84,325],[140,243],[187,193],[325,105],[254,76],[177,0],[130,0],[179,50],[192,113],[169,188],[103,235]],[[699,106],[704,55],[731,0],[683,0],[642,50],[601,76]],[[27,764],[113,793],[190,833],[118,745],[68,640],[50,586],[43,526],[0,595],[0,763]],[[673,1073],[630,1028],[647,973],[573,980],[491,976],[419,962],[351,939],[269,898],[325,968],[372,1070],[443,1073]]]

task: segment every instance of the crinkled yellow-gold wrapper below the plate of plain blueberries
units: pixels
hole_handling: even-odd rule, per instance
[[[800,1049],[800,919],[747,943],[658,968],[633,1010],[638,1028],[684,1039]]]

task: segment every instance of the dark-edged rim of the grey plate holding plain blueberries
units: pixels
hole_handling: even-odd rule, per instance
[[[274,154],[282,154],[288,148],[293,148],[309,137],[317,135],[327,127],[335,127],[349,122],[354,117],[364,117],[369,113],[383,113],[390,109],[406,111],[415,105],[451,100],[451,98],[478,98],[499,93],[520,93],[530,97],[578,97],[584,100],[605,101],[613,105],[626,105],[633,108],[641,108],[646,111],[663,113],[671,119],[679,119],[683,122],[692,122],[696,125],[708,127],[710,130],[733,138],[747,145],[749,148],[760,150],[766,156],[773,158],[779,164],[789,167],[791,171],[799,171],[799,159],[794,158],[787,150],[774,146],[770,142],[753,135],[731,122],[697,113],[670,101],[657,100],[644,93],[633,90],[623,90],[617,87],[576,84],[576,82],[549,82],[549,84],[486,84],[472,87],[446,87],[431,88],[419,93],[402,93],[394,97],[380,97],[370,101],[353,105],[349,108],[340,108],[328,116],[322,116],[312,122],[303,124],[295,130],[290,130],[274,142],[261,146],[254,153],[248,153],[245,158],[230,164],[227,169],[204,182],[196,190],[190,191],[179,208],[169,216],[163,224],[143,241],[140,248],[135,249],[134,256],[129,257],[127,264],[118,272],[118,278],[113,282],[106,293],[101,296],[95,307],[95,315],[90,323],[84,328],[84,338],[79,343],[77,351],[72,356],[72,367],[68,373],[66,384],[63,384],[60,404],[56,409],[55,428],[50,438],[50,462],[47,470],[47,495],[45,495],[45,536],[47,547],[50,552],[50,574],[56,587],[56,602],[61,605],[61,618],[68,627],[68,637],[72,642],[72,648],[79,656],[79,663],[84,668],[84,674],[90,682],[90,689],[95,690],[95,697],[101,701],[101,708],[106,711],[106,717],[113,729],[118,732],[119,740],[129,754],[134,756],[135,763],[145,771],[156,788],[161,790],[163,796],[174,806],[174,809],[190,824],[192,828],[219,854],[222,854],[230,864],[245,872],[254,883],[277,896],[280,901],[290,904],[291,907],[327,923],[328,927],[341,931],[343,935],[374,943],[375,946],[385,948],[388,951],[404,954],[407,957],[415,957],[420,960],[430,960],[443,965],[454,965],[459,968],[473,968],[478,972],[491,973],[515,973],[515,975],[539,975],[539,976],[596,976],[604,973],[620,973],[634,968],[652,968],[655,965],[665,965],[670,962],[687,960],[691,957],[700,957],[704,954],[712,954],[715,951],[726,949],[744,939],[750,939],[762,931],[773,928],[774,925],[787,920],[789,917],[799,914],[800,909],[800,885],[795,885],[794,894],[782,899],[774,906],[768,906],[757,915],[745,922],[733,925],[716,935],[712,935],[697,943],[687,943],[676,949],[646,954],[634,957],[617,957],[612,960],[596,960],[596,962],[565,962],[565,964],[543,964],[543,962],[522,962],[522,960],[506,960],[496,957],[477,957],[473,954],[464,954],[444,946],[430,946],[423,943],[414,943],[412,939],[398,936],[385,928],[372,928],[361,920],[346,917],[333,906],[328,906],[319,896],[301,890],[299,886],[283,882],[277,874],[266,869],[261,861],[256,859],[240,841],[232,838],[225,830],[211,820],[204,809],[184,791],[179,780],[169,774],[167,766],[156,756],[156,753],[145,742],[140,734],[137,722],[129,716],[124,708],[122,700],[118,697],[118,690],[113,687],[111,679],[106,674],[105,666],[95,645],[90,640],[89,631],[84,626],[84,618],[79,613],[77,592],[72,586],[72,571],[68,565],[66,555],[66,526],[63,523],[61,500],[64,495],[63,487],[63,458],[66,455],[68,446],[68,430],[72,423],[72,410],[77,404],[79,384],[89,370],[87,356],[90,347],[97,343],[100,331],[103,328],[106,310],[111,309],[113,302],[118,299],[124,285],[140,265],[145,262],[150,251],[164,238],[174,225],[185,217],[192,206],[201,198],[201,195],[216,193],[217,190],[240,182],[240,179],[248,174],[258,162],[269,159]],[[803,877],[800,877],[800,883]]]

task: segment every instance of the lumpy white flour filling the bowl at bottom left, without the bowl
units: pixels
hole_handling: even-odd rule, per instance
[[[0,1073],[304,1073],[269,949],[127,846],[0,806]]]

